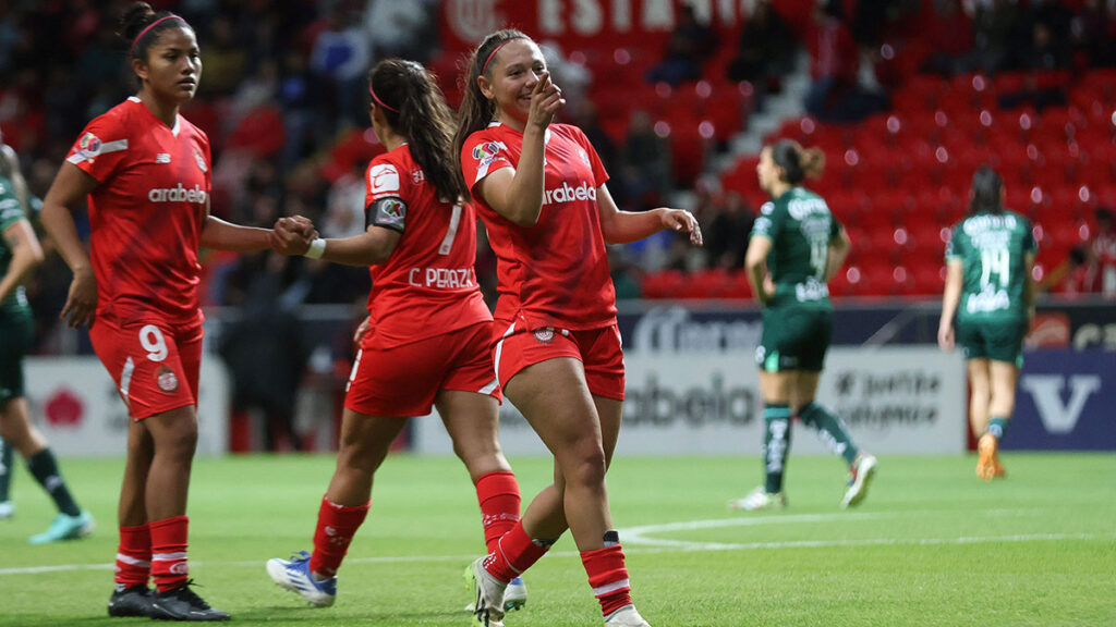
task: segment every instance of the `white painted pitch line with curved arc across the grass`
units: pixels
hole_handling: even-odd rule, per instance
[[[1009,510],[990,510],[982,512],[990,515],[999,515]],[[1010,510],[1014,514],[1022,514],[1028,510]],[[867,547],[867,546],[940,546],[940,544],[977,544],[993,542],[1043,542],[1059,540],[1116,540],[1116,533],[1020,533],[1009,536],[962,536],[956,538],[868,538],[862,540],[788,540],[772,542],[696,542],[684,540],[667,540],[650,538],[651,533],[664,533],[671,531],[695,531],[701,529],[718,529],[724,527],[758,527],[764,524],[788,524],[788,523],[815,523],[833,522],[839,520],[873,520],[886,518],[905,518],[912,513],[920,512],[892,512],[892,513],[840,513],[840,514],[793,514],[793,515],[769,515],[758,518],[731,518],[718,520],[694,520],[686,522],[671,522],[664,524],[650,524],[644,527],[633,527],[620,530],[626,553],[663,553],[663,552],[691,552],[691,551],[745,551],[758,549],[802,549],[802,548],[827,548],[827,547]],[[555,551],[549,553],[556,557],[577,557],[576,551]],[[375,557],[375,558],[352,558],[345,560],[346,563],[403,563],[403,562],[459,562],[466,563],[475,559],[475,554],[461,556],[411,556],[411,557]],[[254,561],[194,561],[193,566],[205,567],[262,567],[264,559]],[[112,570],[112,563],[69,563],[57,566],[36,566],[0,568],[0,576],[4,575],[39,575],[45,572],[64,572],[76,570]]]

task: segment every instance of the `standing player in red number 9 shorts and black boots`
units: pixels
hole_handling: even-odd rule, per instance
[[[61,315],[70,327],[89,326],[133,418],[108,612],[227,620],[190,589],[186,566],[202,347],[198,248],[282,251],[292,242],[210,215],[209,139],[179,115],[201,78],[190,25],[136,2],[122,26],[140,91],[86,126],[42,208],[42,223],[74,271]],[[86,196],[88,255],[70,215]]]

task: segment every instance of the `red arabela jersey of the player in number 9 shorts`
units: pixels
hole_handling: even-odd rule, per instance
[[[196,321],[205,134],[181,115],[169,128],[133,96],[90,122],[66,161],[100,182],[89,194],[97,316]]]

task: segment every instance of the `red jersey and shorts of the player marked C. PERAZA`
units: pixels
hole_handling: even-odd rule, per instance
[[[391,258],[369,268],[372,330],[364,337],[345,406],[374,416],[430,413],[440,389],[500,389],[492,366],[492,320],[473,263],[473,206],[439,199],[403,144],[366,174],[367,224],[402,234]]]

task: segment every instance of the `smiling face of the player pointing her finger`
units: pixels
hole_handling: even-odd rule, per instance
[[[496,103],[497,119],[527,122],[531,90],[546,69],[542,51],[530,39],[512,39],[497,51],[488,75],[478,77],[481,93]]]

